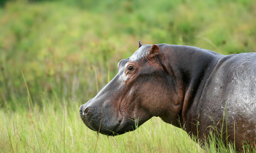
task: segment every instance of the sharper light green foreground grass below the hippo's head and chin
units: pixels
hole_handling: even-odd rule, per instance
[[[1,111],[2,152],[93,152],[97,132],[79,118],[77,101],[44,103],[35,111]],[[57,108],[57,109],[56,109]],[[6,115],[8,114],[8,115]],[[99,135],[95,152],[203,152],[187,134],[159,118],[136,131],[109,137]]]

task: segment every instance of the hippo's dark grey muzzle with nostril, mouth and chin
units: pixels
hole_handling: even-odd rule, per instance
[[[108,110],[103,104],[97,107],[90,105],[90,102],[91,100],[79,108],[80,117],[89,129],[108,136],[121,135],[136,129],[134,119],[123,116],[120,111]]]

